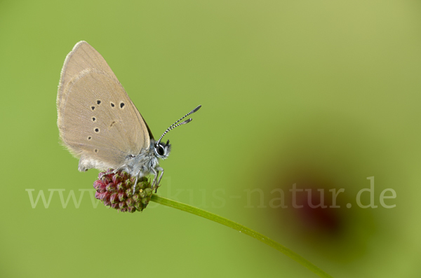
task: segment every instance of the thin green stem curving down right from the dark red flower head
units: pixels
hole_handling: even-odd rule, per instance
[[[320,277],[324,278],[333,278],[323,270],[321,270],[319,267],[316,267],[316,265],[310,263],[305,258],[302,258],[302,256],[298,255],[298,253],[295,253],[291,251],[290,249],[286,248],[285,246],[279,244],[278,242],[275,242],[272,239],[269,239],[269,237],[265,237],[265,235],[260,234],[259,232],[255,232],[254,230],[251,230],[243,225],[240,225],[239,223],[235,223],[234,221],[230,221],[227,218],[218,216],[216,214],[212,214],[209,211],[205,211],[203,209],[199,209],[197,207],[192,207],[189,204],[183,204],[181,202],[176,202],[174,200],[167,199],[165,197],[161,197],[159,195],[152,195],[151,201],[157,202],[159,204],[166,205],[168,207],[173,207],[175,209],[180,209],[182,211],[187,211],[191,214],[196,214],[197,216],[201,216],[203,218],[207,218],[209,220],[215,221],[217,223],[220,223],[222,225],[226,225],[229,228],[233,228],[234,230],[238,230],[239,232],[242,232],[243,234],[250,235],[250,237],[254,237],[255,239],[260,240],[261,242],[273,247],[274,249],[281,251],[286,256],[292,258],[296,262],[304,265],[312,272],[316,273]]]

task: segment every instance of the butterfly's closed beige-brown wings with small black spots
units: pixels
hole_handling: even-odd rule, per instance
[[[107,62],[86,41],[66,57],[57,109],[60,138],[80,158],[80,171],[117,169],[153,139]]]

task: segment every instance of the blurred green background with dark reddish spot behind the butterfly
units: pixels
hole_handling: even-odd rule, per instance
[[[333,277],[420,277],[420,2],[218,0],[0,1],[1,277],[316,277],[198,216],[93,205],[98,171],[77,171],[56,126],[60,70],[81,40],[155,137],[203,106],[165,137],[159,195]],[[377,208],[363,209],[370,176]],[[396,207],[380,203],[387,188]],[[79,202],[81,190],[62,205],[59,191]],[[320,190],[328,207],[310,207]],[[48,206],[32,205],[40,192]]]

